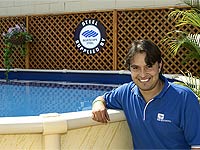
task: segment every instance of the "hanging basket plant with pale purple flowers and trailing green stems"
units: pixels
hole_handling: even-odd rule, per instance
[[[32,42],[32,35],[26,31],[23,25],[16,25],[8,29],[7,33],[3,33],[4,48],[4,65],[6,68],[6,79],[11,69],[12,54],[16,48],[20,48],[21,55],[26,56],[26,44]]]

